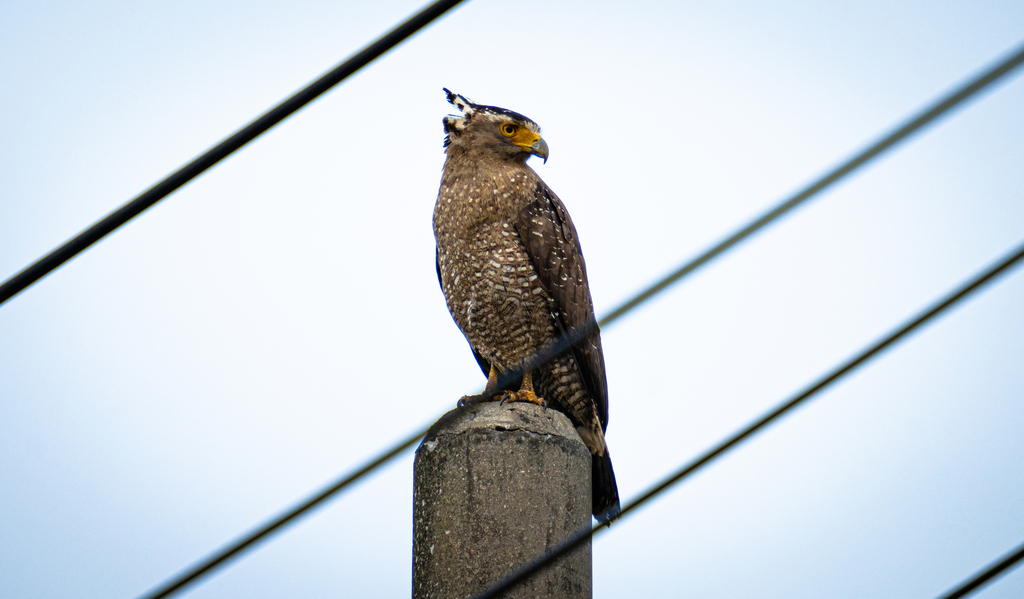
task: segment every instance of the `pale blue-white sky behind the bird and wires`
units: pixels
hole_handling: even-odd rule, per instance
[[[0,279],[419,7],[4,3]],[[441,87],[544,128],[601,314],[1022,40],[1010,1],[467,3],[0,307],[0,597],[137,596],[482,384]],[[1022,106],[606,329],[623,497],[1024,240]],[[1024,541],[1022,362],[1014,272],[602,534],[595,597],[935,597]],[[407,455],[190,596],[408,596],[411,519]]]

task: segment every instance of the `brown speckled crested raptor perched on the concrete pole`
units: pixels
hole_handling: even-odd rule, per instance
[[[434,206],[437,279],[449,310],[487,377],[480,400],[547,404],[565,414],[593,455],[593,513],[618,511],[604,442],[608,389],[600,332],[500,389],[499,375],[573,327],[594,306],[575,226],[529,166],[548,144],[526,117],[447,89],[461,115],[444,117],[444,170]],[[540,394],[540,397],[538,396]]]

